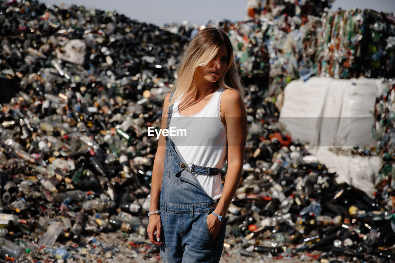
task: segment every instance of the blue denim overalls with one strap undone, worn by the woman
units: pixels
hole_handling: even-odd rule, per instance
[[[170,94],[170,99],[174,91]],[[167,128],[170,124],[173,105],[167,112]],[[214,240],[207,227],[207,216],[217,206],[209,197],[188,166],[178,156],[174,143],[166,136],[166,154],[160,192],[160,218],[162,240],[160,255],[165,263],[173,262],[218,262],[220,260],[226,220]],[[208,167],[193,167],[195,173],[218,174],[219,170]],[[209,176],[208,175],[208,176]]]

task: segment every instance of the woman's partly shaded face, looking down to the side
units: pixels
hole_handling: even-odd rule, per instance
[[[229,54],[226,44],[222,44],[220,49],[218,49],[217,54],[212,60],[210,60],[207,65],[199,67],[197,70],[196,77],[201,81],[216,82],[228,66]]]

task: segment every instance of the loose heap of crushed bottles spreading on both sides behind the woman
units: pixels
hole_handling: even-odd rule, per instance
[[[160,126],[188,37],[27,0],[0,2],[0,22],[0,261],[159,258],[145,230],[157,146],[147,127]],[[244,80],[248,141],[224,255],[392,261],[393,175],[374,197],[337,184]],[[376,138],[393,155],[389,90],[376,119],[390,126]]]

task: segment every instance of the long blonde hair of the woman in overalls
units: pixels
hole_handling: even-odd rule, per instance
[[[224,73],[218,79],[218,86],[237,90],[244,97],[245,89],[241,84],[237,70],[233,47],[228,35],[214,27],[200,30],[188,44],[177,68],[177,80],[172,90],[175,90],[169,106],[177,99],[181,99],[184,92],[190,91],[198,67],[207,65],[214,58],[221,45],[226,44],[229,61]],[[169,109],[167,107],[166,111]]]

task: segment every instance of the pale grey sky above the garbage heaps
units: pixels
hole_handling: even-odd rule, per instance
[[[47,5],[75,4],[85,8],[117,11],[130,19],[161,26],[165,23],[206,24],[209,20],[243,21],[248,0],[39,0]],[[395,0],[335,0],[332,9],[353,7],[395,12]]]

